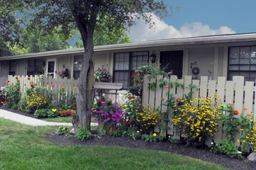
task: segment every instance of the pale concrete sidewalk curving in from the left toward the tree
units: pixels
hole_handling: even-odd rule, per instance
[[[26,117],[21,114],[15,114],[11,111],[0,109],[0,117],[9,119],[11,121],[16,121],[22,124],[27,124],[30,126],[72,126],[71,123],[60,123],[60,122],[49,122],[42,121],[33,117]],[[93,124],[94,125],[94,124]]]

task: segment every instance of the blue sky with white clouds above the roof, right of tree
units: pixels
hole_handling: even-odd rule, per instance
[[[256,32],[256,0],[166,0],[173,6],[171,17],[149,29],[137,20],[128,35],[133,42],[192,36]],[[176,10],[176,8],[178,8]]]

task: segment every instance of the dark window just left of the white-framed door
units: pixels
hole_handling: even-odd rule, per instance
[[[35,76],[44,73],[43,59],[29,59],[28,60],[28,76]]]

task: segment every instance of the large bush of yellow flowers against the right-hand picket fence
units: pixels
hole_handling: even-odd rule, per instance
[[[216,95],[214,95],[216,98]],[[213,137],[218,130],[218,118],[221,111],[213,106],[211,97],[176,99],[173,123],[176,131],[182,133],[187,143],[202,145],[207,137]]]

